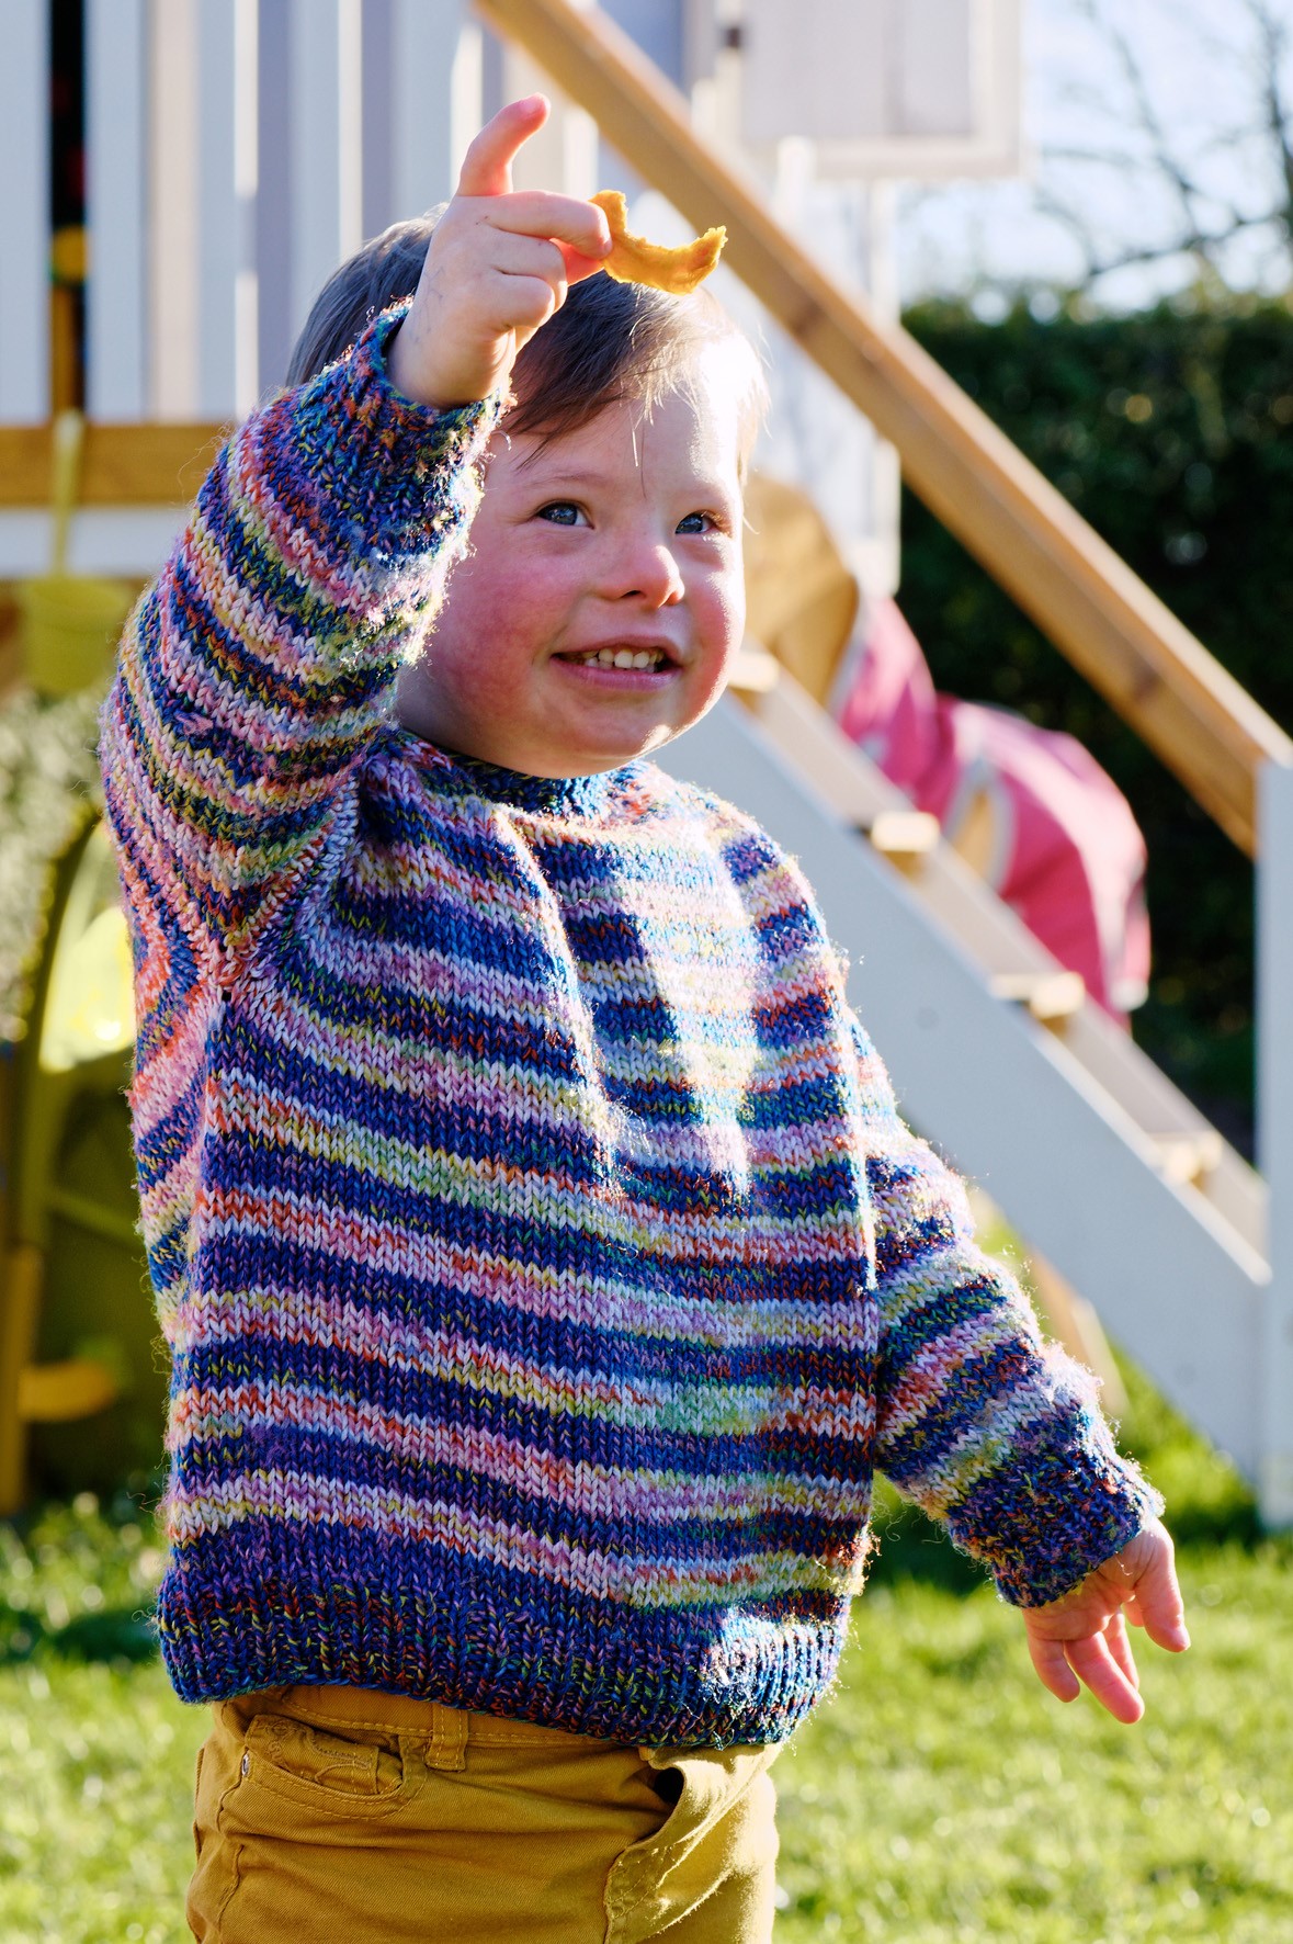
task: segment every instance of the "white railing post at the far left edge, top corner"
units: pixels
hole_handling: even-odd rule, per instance
[[[0,0],[0,424],[49,418],[49,8]]]

